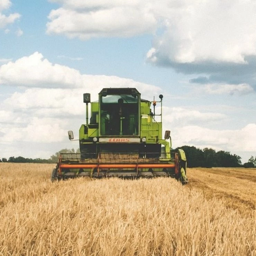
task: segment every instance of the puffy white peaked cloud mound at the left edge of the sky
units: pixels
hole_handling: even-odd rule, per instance
[[[38,52],[2,65],[0,84],[49,88],[74,88],[84,85],[79,71],[52,64]]]

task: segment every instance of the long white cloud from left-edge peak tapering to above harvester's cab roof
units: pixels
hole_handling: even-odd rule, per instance
[[[99,92],[104,87],[136,87],[141,93],[145,92],[146,96],[149,92],[160,91],[157,86],[136,82],[132,79],[81,74],[74,68],[49,62],[38,52],[0,66],[1,84],[27,88],[83,88],[89,92],[95,92],[95,90]],[[50,95],[45,96],[51,98]]]

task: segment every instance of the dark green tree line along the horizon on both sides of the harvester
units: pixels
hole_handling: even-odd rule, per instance
[[[182,146],[179,147],[184,150],[187,159],[188,167],[245,167],[245,168],[253,168],[256,167],[256,156],[251,156],[248,159],[247,163],[241,164],[241,157],[234,154],[230,154],[230,152],[226,152],[220,150],[216,152],[216,150],[212,148],[196,148],[194,146]],[[175,149],[177,151],[178,148]],[[41,158],[25,158],[22,156],[14,157],[11,156],[9,159],[2,158],[0,162],[9,162],[9,163],[57,163],[58,158],[61,153],[80,153],[79,149],[62,149],[52,155],[49,159],[41,159]]]

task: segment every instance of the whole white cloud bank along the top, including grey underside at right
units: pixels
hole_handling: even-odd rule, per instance
[[[256,2],[51,0],[48,34],[90,39],[155,36],[147,61],[207,82],[256,88]],[[118,22],[117,22],[118,21]],[[202,75],[201,75],[202,74]]]

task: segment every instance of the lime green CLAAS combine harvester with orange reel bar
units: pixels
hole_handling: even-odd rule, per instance
[[[159,99],[143,100],[135,88],[104,88],[97,102],[84,93],[86,124],[79,130],[81,154],[61,154],[52,180],[168,176],[185,184],[186,156],[182,149],[171,152],[170,131],[162,138],[163,95]],[[155,113],[157,103],[161,104],[159,114]],[[68,131],[68,138],[74,140],[73,131]]]

